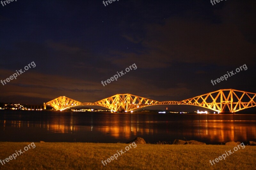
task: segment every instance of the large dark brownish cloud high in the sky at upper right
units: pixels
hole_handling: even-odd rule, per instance
[[[136,61],[141,68],[170,67],[174,62],[215,65],[255,64],[256,45],[247,41],[232,23],[209,23],[184,18],[166,19],[164,25],[151,24],[141,40],[143,50],[118,52],[115,64]],[[136,37],[123,36],[138,43]]]

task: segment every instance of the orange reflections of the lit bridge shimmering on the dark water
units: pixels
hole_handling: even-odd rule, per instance
[[[101,132],[104,135],[108,135],[118,138],[131,139],[134,136],[150,136],[162,135],[166,133],[166,136],[177,137],[190,137],[200,138],[214,142],[226,142],[226,141],[246,141],[247,137],[256,137],[255,121],[246,120],[194,120],[194,121],[180,121],[180,129],[178,127],[170,128],[172,122],[154,121],[151,115],[121,115],[115,114],[106,116],[104,122],[99,121],[95,124],[93,117],[89,118],[89,124],[78,125],[77,118],[71,115],[67,117],[54,117],[51,121],[47,122],[23,122],[23,121],[0,121],[1,127],[5,130],[5,127],[13,128],[43,128],[51,133],[77,133],[77,132]],[[90,120],[91,119],[91,120]],[[88,122],[88,120],[87,120]],[[157,127],[153,126],[154,123],[158,123]],[[102,124],[104,126],[102,126]],[[163,125],[163,126],[160,126]],[[165,126],[166,125],[166,126]],[[186,126],[191,128],[186,128]],[[165,135],[165,134],[164,134]],[[187,138],[187,139],[188,139]],[[182,138],[180,138],[182,139]]]

